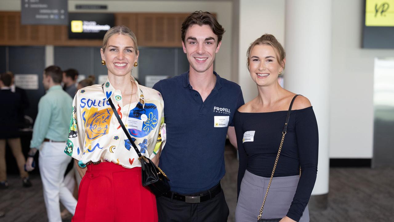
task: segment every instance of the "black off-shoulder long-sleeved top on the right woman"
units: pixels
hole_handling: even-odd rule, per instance
[[[238,195],[246,169],[261,177],[271,177],[286,115],[287,111],[268,113],[236,111],[234,114],[240,158]],[[249,136],[245,137],[243,142],[245,132],[249,135],[253,134],[249,131],[255,131],[253,141],[250,141],[251,136]],[[287,213],[288,217],[296,221],[302,216],[316,181],[318,145],[318,125],[312,107],[292,110],[274,177],[299,175],[299,166],[301,166],[301,178]]]

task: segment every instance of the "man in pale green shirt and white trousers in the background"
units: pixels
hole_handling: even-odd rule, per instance
[[[38,114],[33,127],[33,138],[26,160],[31,171],[33,157],[39,150],[39,170],[49,222],[61,221],[59,200],[74,214],[76,199],[63,183],[63,176],[71,157],[64,155],[69,134],[72,98],[61,88],[63,72],[58,66],[44,70],[43,85],[46,94],[38,103]]]

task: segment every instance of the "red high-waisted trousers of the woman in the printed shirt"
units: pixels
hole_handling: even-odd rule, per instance
[[[156,198],[141,184],[141,167],[87,166],[72,222],[157,222]]]

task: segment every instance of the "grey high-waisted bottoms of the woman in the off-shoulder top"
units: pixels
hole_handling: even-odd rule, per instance
[[[283,218],[286,216],[296,193],[299,176],[274,177],[269,187],[262,218]],[[241,182],[240,196],[235,209],[236,222],[256,222],[260,214],[269,178],[245,171]],[[308,205],[299,222],[309,222]]]

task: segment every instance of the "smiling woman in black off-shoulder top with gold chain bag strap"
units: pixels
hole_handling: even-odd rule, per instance
[[[240,157],[237,222],[255,222],[260,214],[288,108],[296,95],[278,83],[285,65],[285,51],[273,35],[265,34],[251,44],[247,65],[258,96],[234,114]],[[309,100],[297,96],[262,218],[308,222],[307,204],[316,181],[317,166],[316,117]]]

